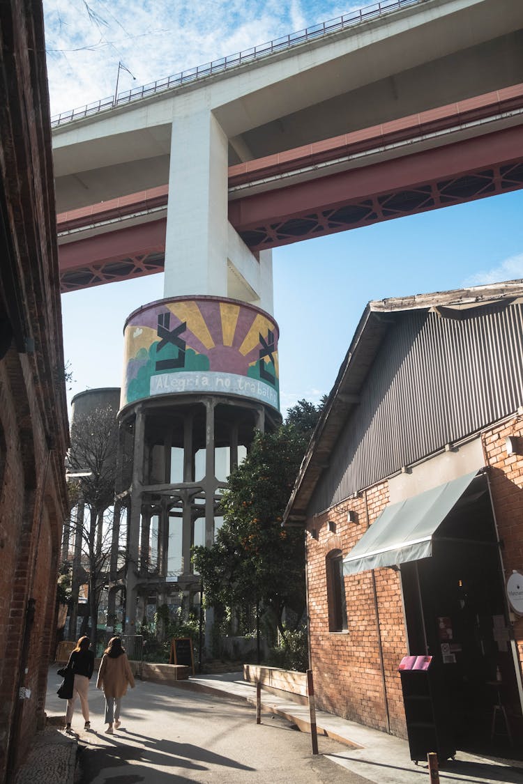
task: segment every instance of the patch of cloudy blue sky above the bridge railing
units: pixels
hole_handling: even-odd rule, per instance
[[[350,8],[361,5],[349,2]],[[305,0],[44,0],[51,112],[249,49],[347,13]],[[365,5],[365,3],[363,3]]]

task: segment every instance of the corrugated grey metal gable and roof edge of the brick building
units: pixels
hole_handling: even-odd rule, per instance
[[[519,280],[370,302],[284,519],[338,503],[521,405],[521,301]]]

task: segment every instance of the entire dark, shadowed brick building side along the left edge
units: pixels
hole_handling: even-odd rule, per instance
[[[42,6],[0,3],[0,782],[44,720],[67,408]]]

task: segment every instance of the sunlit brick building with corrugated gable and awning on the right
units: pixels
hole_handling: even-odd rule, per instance
[[[510,281],[361,317],[285,514],[307,532],[323,710],[411,739],[398,666],[431,655],[453,748],[521,742],[522,296]]]

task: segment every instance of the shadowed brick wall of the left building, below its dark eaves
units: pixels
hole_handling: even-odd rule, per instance
[[[54,484],[56,471],[63,472],[62,456],[49,451],[29,365],[16,350],[9,350],[0,363],[5,441],[0,477],[0,782],[8,763],[16,768],[24,758],[43,717],[64,515]],[[35,599],[35,618],[27,624],[30,598]],[[20,686],[31,689],[29,699],[19,699]]]

